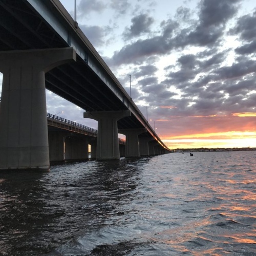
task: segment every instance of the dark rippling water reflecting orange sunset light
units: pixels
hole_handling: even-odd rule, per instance
[[[256,255],[256,152],[0,173],[0,255]]]

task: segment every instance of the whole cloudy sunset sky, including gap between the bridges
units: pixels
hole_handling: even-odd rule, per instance
[[[75,1],[60,2],[74,17]],[[131,74],[133,101],[170,149],[256,147],[255,0],[76,2],[78,26],[129,94]],[[46,95],[49,113],[97,129]]]

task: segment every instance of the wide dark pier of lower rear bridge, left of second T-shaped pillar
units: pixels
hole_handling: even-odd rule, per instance
[[[88,160],[88,138],[68,136],[65,138],[65,160]]]

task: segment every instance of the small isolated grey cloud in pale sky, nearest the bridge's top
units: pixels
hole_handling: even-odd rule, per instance
[[[147,14],[139,14],[132,18],[132,25],[130,28],[126,28],[123,33],[124,39],[130,39],[137,37],[141,34],[150,32],[150,26],[154,23],[154,18]]]

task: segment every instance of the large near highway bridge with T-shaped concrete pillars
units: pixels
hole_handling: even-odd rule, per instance
[[[0,169],[49,168],[45,89],[98,121],[96,159],[169,149],[58,0],[0,0]],[[141,150],[141,148],[145,148]]]

